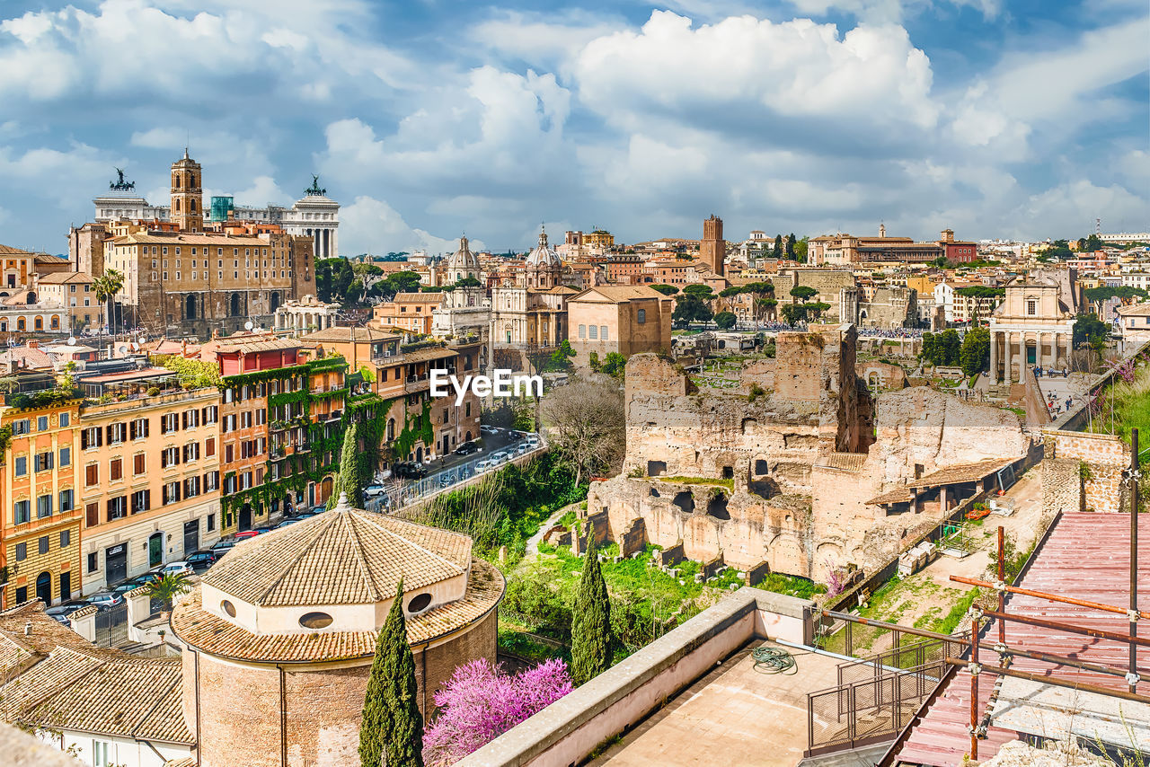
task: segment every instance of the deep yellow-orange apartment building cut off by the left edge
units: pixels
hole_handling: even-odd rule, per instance
[[[0,407],[0,608],[80,590],[76,434],[80,393],[44,373],[16,378]]]

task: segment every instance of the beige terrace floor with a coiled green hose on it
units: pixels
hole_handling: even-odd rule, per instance
[[[807,746],[806,693],[837,684],[836,658],[781,647],[796,673],[754,669],[754,641],[589,762],[595,767],[795,767]]]

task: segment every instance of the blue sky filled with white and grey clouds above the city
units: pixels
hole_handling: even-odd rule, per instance
[[[0,0],[0,243],[115,168],[291,205],[344,255],[752,229],[1150,230],[1145,0]]]

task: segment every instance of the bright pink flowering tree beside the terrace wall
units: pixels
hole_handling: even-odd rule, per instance
[[[567,664],[559,659],[519,674],[485,658],[465,664],[435,693],[439,713],[423,734],[423,761],[453,765],[570,691]]]

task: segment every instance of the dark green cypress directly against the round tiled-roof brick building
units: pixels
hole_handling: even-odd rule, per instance
[[[407,644],[404,582],[379,629],[360,723],[360,766],[423,767],[423,715],[416,701],[415,658]]]

